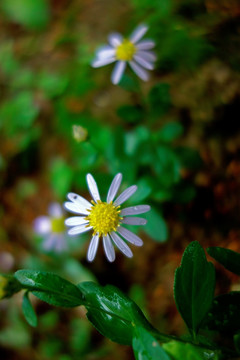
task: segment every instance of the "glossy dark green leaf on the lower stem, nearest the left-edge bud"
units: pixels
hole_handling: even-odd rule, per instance
[[[60,276],[35,270],[19,270],[14,275],[23,287],[48,304],[75,307],[83,304],[79,288]]]

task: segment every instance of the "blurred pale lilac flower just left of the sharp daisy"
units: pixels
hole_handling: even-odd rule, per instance
[[[64,213],[60,204],[52,203],[48,209],[49,216],[39,216],[34,220],[34,231],[43,236],[42,247],[46,251],[61,252],[66,250],[67,235],[64,225]]]

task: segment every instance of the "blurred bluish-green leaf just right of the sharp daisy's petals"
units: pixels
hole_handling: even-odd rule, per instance
[[[147,224],[144,231],[154,240],[164,242],[168,238],[168,227],[166,221],[157,209],[151,207],[151,211],[146,214]]]

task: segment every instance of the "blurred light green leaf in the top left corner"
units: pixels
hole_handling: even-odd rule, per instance
[[[47,0],[3,0],[1,8],[12,21],[30,28],[44,28],[50,18]]]

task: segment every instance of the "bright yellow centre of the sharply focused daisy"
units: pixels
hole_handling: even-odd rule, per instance
[[[89,226],[93,227],[93,233],[99,233],[101,236],[116,231],[122,219],[119,216],[120,206],[114,206],[112,202],[108,204],[100,200],[97,203],[92,203],[92,208],[88,210],[90,214],[85,219],[89,221]]]

